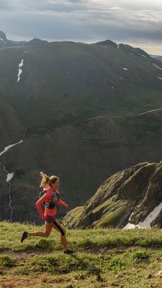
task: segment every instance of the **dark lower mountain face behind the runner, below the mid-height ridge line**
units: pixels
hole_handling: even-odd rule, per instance
[[[72,209],[83,206],[113,173],[139,162],[159,162],[161,142],[162,111],[135,117],[92,118],[27,137],[1,155],[8,173],[14,173],[13,220],[40,223],[35,208],[40,170],[60,177],[60,197]],[[6,173],[1,170],[0,175],[0,219],[9,219]]]

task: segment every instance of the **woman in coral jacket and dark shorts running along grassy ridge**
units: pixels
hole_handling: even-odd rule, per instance
[[[68,249],[66,240],[65,228],[60,225],[59,221],[56,219],[57,205],[68,208],[67,203],[59,199],[58,188],[60,186],[59,178],[56,176],[48,177],[43,172],[40,172],[42,181],[40,187],[43,187],[44,195],[36,202],[36,208],[40,217],[45,220],[45,231],[27,232],[24,231],[21,237],[21,243],[30,236],[43,236],[48,237],[51,233],[52,228],[55,228],[60,232],[60,240],[64,247],[64,253],[71,254],[74,253],[73,250]],[[45,213],[42,210],[42,204],[45,203]]]

